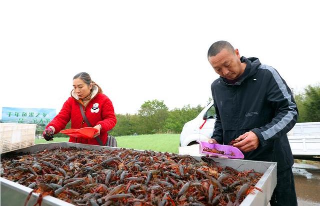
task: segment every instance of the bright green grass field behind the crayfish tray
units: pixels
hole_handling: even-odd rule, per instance
[[[157,152],[178,153],[179,134],[154,134],[154,135],[137,135],[137,136],[120,136],[115,137],[118,147],[153,150]],[[44,139],[35,139],[35,144],[67,142],[69,138],[53,138],[53,141],[47,142]]]

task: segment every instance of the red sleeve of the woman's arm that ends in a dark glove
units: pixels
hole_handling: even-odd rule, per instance
[[[60,132],[64,129],[65,125],[70,121],[71,118],[71,105],[72,105],[72,97],[69,97],[63,104],[61,111],[52,119],[52,121],[46,126],[54,127],[54,134]]]

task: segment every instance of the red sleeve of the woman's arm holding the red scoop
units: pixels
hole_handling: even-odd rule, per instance
[[[102,120],[97,122],[96,124],[101,125],[102,132],[107,132],[115,126],[116,118],[114,115],[113,105],[110,99],[107,97],[102,106],[101,117],[102,117]]]

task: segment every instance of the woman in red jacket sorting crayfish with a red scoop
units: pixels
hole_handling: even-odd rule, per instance
[[[81,115],[83,109],[86,120]],[[53,134],[60,132],[71,119],[71,128],[93,127],[98,130],[96,138],[84,139],[70,137],[69,142],[105,145],[107,142],[107,131],[111,130],[116,118],[110,99],[102,94],[101,88],[95,84],[89,74],[81,72],[73,77],[73,90],[62,106],[61,111],[46,126],[43,138],[46,141],[53,139]]]

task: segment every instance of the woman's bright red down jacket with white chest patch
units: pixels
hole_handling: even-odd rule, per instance
[[[69,122],[70,119],[72,129],[88,127],[88,125],[83,120],[80,112],[80,101],[77,100],[77,96],[73,95],[74,94],[71,92],[71,97],[69,97],[64,102],[61,111],[46,126],[46,128],[53,126],[55,129],[54,134],[64,129],[65,125]],[[83,106],[83,104],[81,106],[84,108],[85,116],[92,127],[97,124],[101,125],[99,138],[101,139],[103,145],[105,145],[107,141],[107,131],[111,130],[116,123],[112,102],[106,95],[97,93],[93,98],[89,100],[85,107]],[[69,142],[99,145],[95,138],[84,139],[70,137]]]

